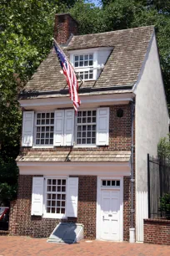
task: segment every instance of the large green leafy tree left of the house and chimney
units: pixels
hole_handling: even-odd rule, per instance
[[[67,1],[67,4],[75,1]],[[16,195],[22,113],[18,92],[52,47],[54,14],[64,1],[4,0],[0,5],[0,203]]]

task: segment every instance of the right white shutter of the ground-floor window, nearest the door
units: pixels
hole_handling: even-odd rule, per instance
[[[67,206],[66,216],[77,217],[78,178],[67,178]]]

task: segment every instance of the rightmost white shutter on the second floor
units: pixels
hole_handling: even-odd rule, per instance
[[[97,145],[108,145],[109,108],[97,109]]]

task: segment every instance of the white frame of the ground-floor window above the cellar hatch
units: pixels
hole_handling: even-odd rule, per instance
[[[67,212],[67,178],[68,177],[44,177],[44,187],[43,187],[43,215],[42,217],[43,218],[60,218],[60,219],[66,219],[67,218],[67,215],[66,215],[66,212]],[[65,213],[62,214],[62,213],[49,213],[47,212],[47,179],[56,179],[56,180],[60,180],[60,179],[65,179],[66,180],[66,204],[65,204]]]

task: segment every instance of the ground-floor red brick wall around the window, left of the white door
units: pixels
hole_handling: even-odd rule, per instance
[[[31,216],[32,175],[20,175],[18,179],[18,199],[11,204],[9,233],[48,237],[59,219]],[[97,177],[79,176],[77,218],[67,222],[84,225],[85,238],[96,238]]]

